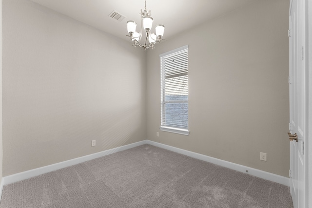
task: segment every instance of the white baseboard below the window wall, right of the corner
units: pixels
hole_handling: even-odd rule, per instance
[[[203,161],[206,161],[206,162],[214,163],[216,165],[219,165],[219,166],[222,166],[222,167],[226,167],[226,168],[229,168],[229,169],[233,169],[233,170],[236,170],[236,171],[239,171],[239,172],[248,173],[250,175],[253,175],[253,176],[256,176],[256,177],[259,177],[259,178],[263,178],[263,179],[266,179],[266,180],[269,180],[269,181],[273,181],[273,182],[276,182],[276,183],[279,183],[279,184],[283,184],[283,185],[288,186],[288,187],[290,186],[290,179],[289,178],[283,177],[283,176],[280,176],[280,175],[276,175],[276,174],[273,174],[273,173],[270,173],[270,172],[266,172],[266,171],[263,171],[263,170],[257,170],[257,169],[250,168],[250,167],[247,167],[247,166],[238,165],[238,164],[231,163],[231,162],[228,162],[228,161],[225,161],[225,160],[220,160],[220,159],[217,159],[217,158],[214,158],[214,157],[210,157],[210,156],[199,154],[199,153],[192,152],[192,151],[179,149],[179,148],[176,148],[176,147],[172,147],[172,146],[169,146],[169,145],[161,144],[161,143],[150,141],[150,140],[146,140],[146,144],[150,144],[150,145],[153,145],[153,146],[156,146],[156,147],[159,147],[159,148],[163,148],[163,149],[166,149],[166,150],[169,150],[169,151],[174,151],[174,152],[177,152],[177,153],[180,153],[180,154],[184,154],[184,155],[187,155],[187,156],[199,159],[199,160],[203,160]],[[247,172],[246,172],[246,170],[247,170]]]

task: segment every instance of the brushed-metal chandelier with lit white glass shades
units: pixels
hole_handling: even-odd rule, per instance
[[[130,39],[133,41],[133,46],[136,47],[137,45],[141,48],[144,48],[144,50],[148,48],[155,48],[154,44],[156,42],[160,42],[161,37],[164,35],[164,29],[165,26],[162,24],[157,24],[155,27],[155,33],[151,33],[151,28],[153,24],[153,18],[151,17],[151,10],[148,12],[146,10],[146,0],[145,0],[145,9],[142,11],[141,9],[141,26],[143,25],[143,28],[145,30],[145,42],[144,44],[140,43],[140,40],[142,38],[142,28],[140,29],[140,32],[136,31],[137,23],[133,20],[127,21],[127,29],[129,35],[126,35],[130,37]]]

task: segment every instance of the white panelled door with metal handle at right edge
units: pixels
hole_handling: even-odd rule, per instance
[[[294,208],[305,208],[305,0],[291,0],[289,13],[290,51],[290,189]],[[290,138],[295,136],[290,135]]]

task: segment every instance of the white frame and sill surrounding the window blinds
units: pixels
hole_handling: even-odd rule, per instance
[[[159,57],[160,57],[160,64],[161,64],[161,67],[160,67],[160,76],[161,76],[161,80],[160,80],[160,86],[161,86],[161,100],[160,100],[160,105],[161,105],[161,112],[160,112],[160,131],[164,131],[164,132],[172,132],[172,133],[178,133],[178,134],[182,134],[182,135],[189,135],[190,131],[189,131],[189,120],[187,119],[187,128],[177,128],[177,127],[173,127],[173,126],[166,126],[166,125],[163,125],[163,113],[165,111],[165,107],[164,107],[164,104],[165,103],[168,103],[168,101],[165,100],[165,95],[164,95],[164,89],[165,89],[165,77],[163,76],[163,70],[165,70],[163,68],[163,63],[162,63],[162,57],[166,57],[166,56],[169,56],[169,55],[172,55],[172,54],[175,54],[175,53],[178,53],[178,52],[181,52],[181,51],[184,51],[184,50],[187,50],[187,54],[188,54],[188,45],[185,45],[185,46],[182,46],[180,48],[176,48],[172,51],[169,51],[169,52],[166,52],[166,53],[163,53],[163,54],[160,54]],[[188,65],[188,58],[187,58],[187,65]],[[187,73],[188,73],[188,68],[187,68]],[[187,79],[187,87],[189,87],[189,80]],[[188,99],[187,101],[183,101],[183,103],[189,103]],[[188,110],[189,110],[189,107],[188,107]],[[189,113],[188,113],[189,115]],[[188,116],[187,116],[188,117]]]

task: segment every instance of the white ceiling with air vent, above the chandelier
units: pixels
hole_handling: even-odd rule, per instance
[[[144,0],[32,0],[61,14],[96,27],[118,38],[126,37],[128,20],[137,22],[139,31],[140,10],[144,10]],[[255,0],[146,0],[147,10],[151,10],[156,24],[165,25],[163,38],[173,38]],[[121,22],[109,17],[116,10],[126,18]],[[155,32],[155,29],[152,30]]]

